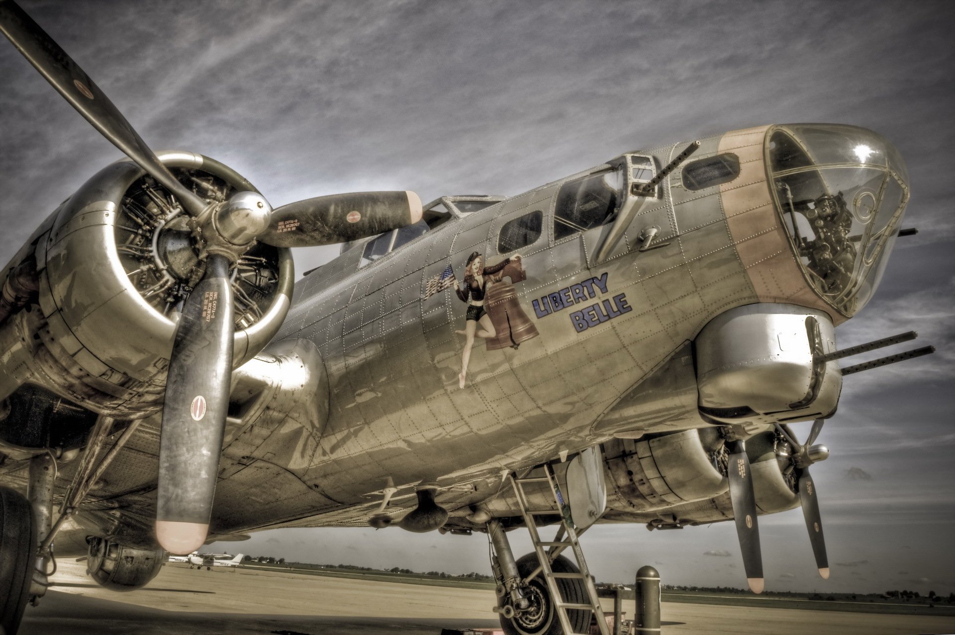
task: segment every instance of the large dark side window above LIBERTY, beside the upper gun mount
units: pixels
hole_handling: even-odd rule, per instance
[[[564,183],[557,193],[554,239],[560,240],[612,220],[621,202],[623,180],[623,174],[614,171]]]

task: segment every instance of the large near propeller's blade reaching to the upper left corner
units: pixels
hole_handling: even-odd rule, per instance
[[[99,133],[176,195],[186,212],[196,216],[205,209],[202,198],[162,165],[90,76],[12,0],[0,1],[0,31]]]

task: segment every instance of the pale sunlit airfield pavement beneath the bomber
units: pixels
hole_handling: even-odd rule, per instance
[[[146,588],[115,593],[60,563],[56,586],[27,607],[21,635],[438,635],[498,625],[491,591],[347,580],[254,569],[167,565]],[[610,604],[606,604],[610,608]],[[625,604],[632,616],[633,606]],[[898,635],[953,633],[955,618],[663,604],[664,635]]]

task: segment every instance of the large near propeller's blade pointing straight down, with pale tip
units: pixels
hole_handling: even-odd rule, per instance
[[[202,546],[209,530],[232,377],[229,260],[209,256],[186,298],[162,406],[156,537],[175,554]]]

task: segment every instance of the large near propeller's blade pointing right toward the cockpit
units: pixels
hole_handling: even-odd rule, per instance
[[[300,200],[274,210],[259,240],[275,247],[316,247],[377,236],[421,220],[414,192],[353,192]]]

